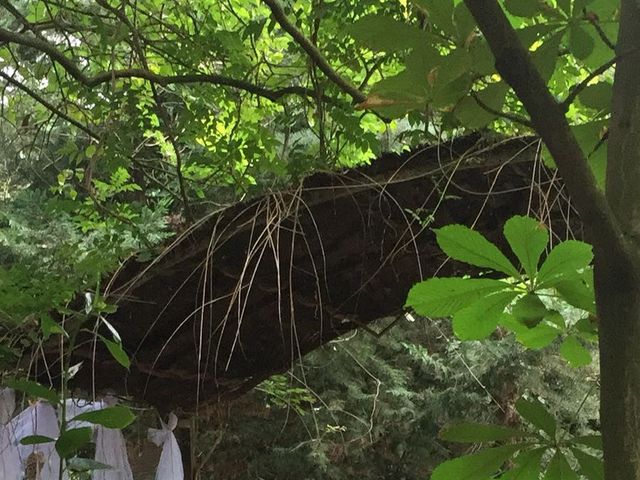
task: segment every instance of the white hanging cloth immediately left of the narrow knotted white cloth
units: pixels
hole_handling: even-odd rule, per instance
[[[116,404],[113,397],[106,397],[102,407],[110,407]],[[96,409],[99,410],[99,409]],[[96,425],[96,462],[109,465],[108,470],[94,470],[92,480],[133,480],[129,458],[127,456],[127,444],[122,431],[114,428]]]

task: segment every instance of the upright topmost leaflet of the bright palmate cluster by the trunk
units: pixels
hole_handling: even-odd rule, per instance
[[[529,278],[538,272],[540,256],[549,243],[549,232],[531,217],[511,217],[504,224],[504,236]]]

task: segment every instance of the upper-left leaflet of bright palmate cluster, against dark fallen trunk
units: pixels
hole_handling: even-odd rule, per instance
[[[447,225],[435,230],[438,245],[455,260],[487,267],[518,278],[516,267],[482,234],[464,225]]]

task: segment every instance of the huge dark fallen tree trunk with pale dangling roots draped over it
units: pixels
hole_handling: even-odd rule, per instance
[[[349,330],[393,322],[415,282],[460,272],[431,227],[474,224],[500,243],[513,214],[534,209],[547,221],[570,212],[538,150],[531,138],[463,138],[318,173],[210,215],[154,261],[114,275],[109,321],[131,368],[88,338],[75,355],[90,361],[74,385],[193,410]]]

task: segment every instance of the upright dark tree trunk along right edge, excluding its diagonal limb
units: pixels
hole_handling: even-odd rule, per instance
[[[640,480],[639,46],[640,8],[636,0],[622,0],[606,195],[626,252],[596,248],[595,270],[607,480]]]

